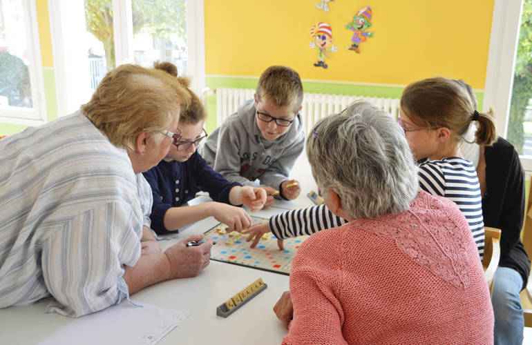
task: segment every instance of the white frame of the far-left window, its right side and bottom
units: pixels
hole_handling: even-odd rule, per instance
[[[0,108],[0,123],[24,126],[46,124],[46,101],[41,61],[41,44],[37,22],[37,4],[31,0],[21,0],[28,46],[28,72],[32,94],[32,108]]]

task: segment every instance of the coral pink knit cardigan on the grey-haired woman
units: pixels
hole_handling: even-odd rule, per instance
[[[493,344],[493,309],[468,223],[443,197],[307,239],[290,275],[283,344]]]

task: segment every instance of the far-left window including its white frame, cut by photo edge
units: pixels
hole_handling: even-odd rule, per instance
[[[0,122],[43,124],[35,1],[0,0]]]

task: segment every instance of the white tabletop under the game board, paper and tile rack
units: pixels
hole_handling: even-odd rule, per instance
[[[313,205],[306,197],[310,189],[316,190],[310,168],[304,155],[298,162],[294,178],[303,183],[300,197],[294,201],[276,201],[269,210],[252,215],[267,218],[283,208]],[[217,223],[212,217],[198,221],[179,233],[177,239],[160,242],[162,249],[189,235],[203,233]],[[267,284],[266,290],[229,317],[216,315],[217,306],[259,277]],[[197,277],[162,282],[145,288],[131,299],[191,312],[189,319],[158,344],[281,344],[287,331],[272,308],[283,291],[288,290],[288,281],[287,275],[211,260]],[[35,344],[74,321],[57,313],[46,314],[47,304],[44,301],[0,309],[0,344]]]

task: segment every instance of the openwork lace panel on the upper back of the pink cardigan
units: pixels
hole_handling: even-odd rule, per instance
[[[391,237],[399,250],[453,286],[469,284],[466,244],[469,229],[459,210],[441,199],[419,192],[410,209],[379,219],[359,219],[357,226],[377,235]],[[459,228],[460,224],[466,229]],[[466,231],[467,230],[467,231]]]

